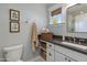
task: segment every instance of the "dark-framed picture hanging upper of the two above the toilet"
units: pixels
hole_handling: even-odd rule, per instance
[[[20,11],[10,9],[10,20],[20,21]]]

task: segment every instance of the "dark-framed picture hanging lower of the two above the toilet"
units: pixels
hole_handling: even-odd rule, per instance
[[[20,23],[18,21],[11,21],[10,22],[10,32],[11,33],[20,32]]]

